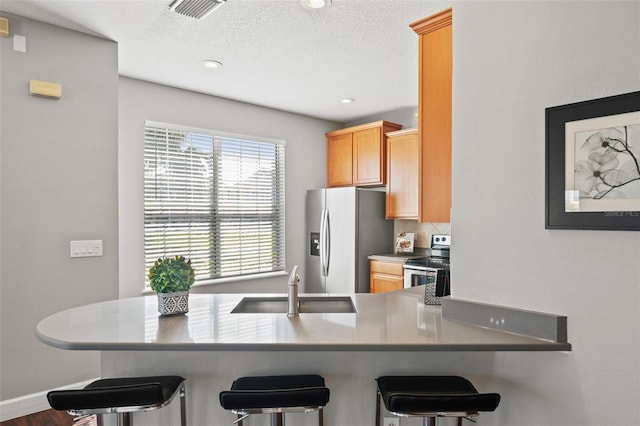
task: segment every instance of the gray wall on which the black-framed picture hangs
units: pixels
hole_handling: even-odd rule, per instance
[[[497,353],[487,424],[637,425],[640,232],[544,228],[544,114],[640,90],[640,2],[461,2],[453,22],[452,292],[568,315],[573,344]]]

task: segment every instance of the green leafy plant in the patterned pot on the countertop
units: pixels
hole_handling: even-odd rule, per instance
[[[191,260],[186,260],[184,256],[158,259],[149,269],[151,290],[156,293],[187,291],[195,280]]]

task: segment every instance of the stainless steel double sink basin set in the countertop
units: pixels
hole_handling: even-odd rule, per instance
[[[287,298],[245,297],[231,311],[232,314],[286,314]],[[301,296],[298,298],[301,314],[355,314],[356,310],[349,296]]]

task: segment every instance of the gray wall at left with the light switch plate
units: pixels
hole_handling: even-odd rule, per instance
[[[114,42],[9,14],[27,53],[0,39],[0,400],[99,375],[96,353],[36,340],[38,321],[118,296]],[[62,99],[29,96],[29,80]],[[104,256],[69,257],[69,241],[103,240]]]

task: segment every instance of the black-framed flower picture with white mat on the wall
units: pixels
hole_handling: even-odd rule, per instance
[[[547,229],[640,231],[640,92],[546,109]]]

